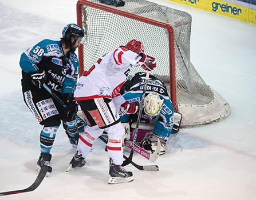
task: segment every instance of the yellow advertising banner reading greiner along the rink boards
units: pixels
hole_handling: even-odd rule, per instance
[[[256,25],[256,10],[220,0],[168,0]]]

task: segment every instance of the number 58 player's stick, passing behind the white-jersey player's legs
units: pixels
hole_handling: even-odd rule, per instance
[[[62,99],[60,99],[55,93],[52,92],[52,90],[50,90],[50,88],[47,86],[47,85],[43,85],[44,88],[50,93],[52,94],[53,98],[55,98],[63,107],[68,107],[65,105],[65,103],[62,101]],[[84,126],[88,126],[87,123],[81,119],[77,114],[75,115],[75,118],[77,119],[77,121],[81,122],[82,125]],[[107,143],[107,141],[102,137],[100,136],[99,137],[103,142]],[[126,157],[124,155],[124,158],[125,158],[125,161],[127,161],[127,159],[129,159],[129,163],[131,163],[133,166],[135,166],[137,169],[139,170],[145,170],[145,171],[159,171],[159,167],[157,165],[148,165],[148,166],[140,166],[140,165],[137,165],[136,163],[132,162],[132,158],[131,158],[132,155],[130,155],[129,157]],[[124,161],[124,162],[125,162]]]

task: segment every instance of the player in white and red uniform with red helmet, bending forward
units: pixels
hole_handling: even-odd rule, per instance
[[[127,79],[127,72],[134,65],[140,65],[144,70],[152,70],[156,66],[155,58],[144,54],[142,43],[135,39],[100,57],[78,80],[74,97],[81,106],[88,126],[79,137],[77,153],[66,171],[85,165],[85,158],[94,141],[105,131],[108,133],[107,150],[111,175],[108,182],[133,181],[132,172],[121,166],[124,127],[121,125],[119,112],[134,114],[138,106],[125,101],[119,91]]]

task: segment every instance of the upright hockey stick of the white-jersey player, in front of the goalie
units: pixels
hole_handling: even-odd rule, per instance
[[[122,166],[126,166],[128,165],[130,162],[132,162],[132,155],[134,152],[134,145],[137,139],[137,134],[138,134],[138,130],[139,130],[139,123],[140,123],[140,118],[142,115],[142,111],[143,111],[143,105],[144,105],[144,98],[145,98],[145,93],[147,91],[147,85],[148,85],[148,78],[149,78],[149,73],[150,71],[147,71],[146,77],[145,77],[145,83],[144,83],[144,87],[143,87],[143,93],[141,96],[141,101],[140,101],[140,110],[139,110],[139,114],[138,114],[138,118],[137,118],[137,123],[136,123],[136,127],[133,130],[133,142],[132,142],[132,147],[131,147],[131,153],[129,155],[129,159],[126,159]]]

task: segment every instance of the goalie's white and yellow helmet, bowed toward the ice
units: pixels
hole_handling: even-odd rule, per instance
[[[159,115],[162,110],[164,99],[160,99],[159,95],[155,92],[149,93],[144,98],[144,111],[145,114],[150,116]]]

